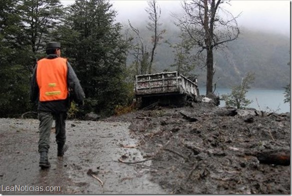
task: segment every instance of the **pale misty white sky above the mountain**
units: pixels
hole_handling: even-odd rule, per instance
[[[72,0],[61,0],[63,4]],[[134,24],[147,20],[147,0],[110,0],[117,11],[116,21],[127,24],[127,20]],[[161,8],[162,22],[171,22],[171,13],[179,13],[182,8],[180,0],[157,0]],[[290,35],[290,0],[231,0],[231,6],[225,8],[233,15],[241,15],[237,19],[240,27],[256,30],[274,31]],[[165,20],[166,19],[166,20]]]

